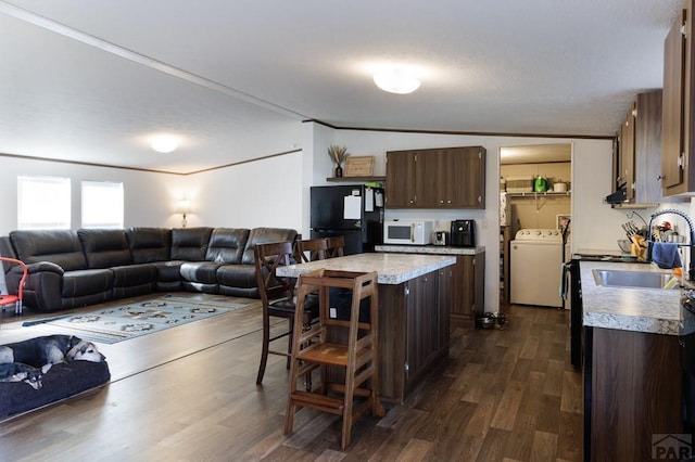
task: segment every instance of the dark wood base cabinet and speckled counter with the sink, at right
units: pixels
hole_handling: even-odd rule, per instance
[[[695,315],[681,306],[681,290],[599,285],[594,270],[670,270],[580,264],[584,460],[652,460],[681,435],[692,438]]]

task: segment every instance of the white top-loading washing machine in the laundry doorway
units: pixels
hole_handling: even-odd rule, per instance
[[[522,229],[510,242],[509,298],[513,304],[563,307],[563,234],[555,229]]]

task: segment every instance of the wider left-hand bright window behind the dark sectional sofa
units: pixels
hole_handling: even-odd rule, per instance
[[[17,177],[17,229],[70,229],[70,178]]]

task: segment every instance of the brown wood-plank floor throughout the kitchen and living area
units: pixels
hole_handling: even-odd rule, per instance
[[[282,435],[285,359],[271,356],[263,387],[255,386],[261,318],[253,300],[99,345],[112,382],[0,423],[0,460],[581,460],[581,374],[569,364],[569,313],[507,312],[504,330],[455,330],[450,359],[405,406],[359,421],[345,451],[330,414],[303,409],[294,434]],[[0,343],[30,336],[14,315],[0,320]]]

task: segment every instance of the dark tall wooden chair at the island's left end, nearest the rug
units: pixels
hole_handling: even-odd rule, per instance
[[[292,332],[294,329],[294,284],[293,278],[281,278],[277,275],[277,268],[291,265],[293,261],[294,248],[291,242],[276,242],[267,244],[256,244],[254,248],[254,259],[256,267],[256,281],[261,293],[263,306],[263,348],[261,351],[261,363],[256,376],[256,385],[263,383],[265,367],[268,355],[280,355],[289,358],[292,348]],[[318,315],[317,301],[304,311],[303,322],[311,324],[312,319]],[[270,317],[285,318],[288,320],[288,328],[280,333],[270,335]],[[271,349],[271,343],[288,337],[285,351]]]

